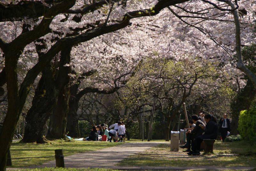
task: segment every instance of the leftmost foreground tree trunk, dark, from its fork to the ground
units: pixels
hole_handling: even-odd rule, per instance
[[[8,109],[4,119],[3,127],[0,130],[0,171],[6,168],[7,152],[12,143],[16,125],[20,118],[20,112],[23,108],[24,101],[19,100],[18,96],[18,80],[17,80],[17,59],[20,51],[15,52],[13,49],[5,53],[5,69],[7,82]]]

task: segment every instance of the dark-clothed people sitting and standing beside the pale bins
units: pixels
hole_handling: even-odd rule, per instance
[[[218,123],[213,113],[204,114],[204,111],[200,111],[199,115],[192,115],[192,120],[189,120],[190,128],[187,130],[187,142],[180,148],[187,148],[183,152],[188,152],[188,155],[200,155],[200,146],[204,139],[216,139],[218,136]],[[221,139],[224,142],[225,138],[229,135],[230,120],[227,118],[227,114],[223,114],[223,118],[219,121],[219,131]]]

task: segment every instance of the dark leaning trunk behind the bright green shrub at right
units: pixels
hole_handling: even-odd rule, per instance
[[[239,132],[238,128],[238,120],[239,114],[242,110],[249,109],[252,101],[256,96],[256,88],[252,84],[251,80],[248,80],[244,89],[241,90],[231,103],[231,113],[232,113],[232,122],[230,123],[231,126],[231,135],[237,135]]]

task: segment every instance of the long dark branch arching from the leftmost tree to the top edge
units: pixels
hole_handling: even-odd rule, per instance
[[[189,1],[189,0],[161,0],[154,7],[150,8],[150,9],[127,12],[124,15],[124,18],[120,23],[112,24],[112,25],[109,25],[106,27],[104,27],[104,26],[97,27],[97,28],[89,30],[81,35],[65,37],[65,38],[60,39],[59,41],[57,41],[57,43],[55,43],[52,46],[52,48],[49,51],[47,51],[44,55],[42,55],[44,60],[39,61],[34,67],[32,67],[28,71],[24,81],[20,85],[19,97],[23,98],[23,100],[24,100],[24,98],[26,98],[26,95],[29,92],[29,87],[32,85],[32,83],[36,79],[37,75],[43,70],[43,68],[45,66],[47,66],[47,64],[50,63],[52,58],[62,49],[62,47],[76,45],[78,43],[82,43],[82,42],[91,40],[94,37],[122,29],[130,24],[130,19],[132,19],[132,18],[156,15],[165,7],[168,7],[168,6],[174,5],[174,4],[187,2],[187,1]],[[27,32],[27,33],[29,33],[29,32]],[[27,33],[25,33],[25,34],[27,34]]]

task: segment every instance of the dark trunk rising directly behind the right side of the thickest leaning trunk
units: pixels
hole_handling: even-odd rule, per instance
[[[69,111],[68,102],[70,98],[70,91],[66,85],[60,92],[57,105],[50,117],[50,132],[47,138],[60,139],[66,138],[67,115]]]

